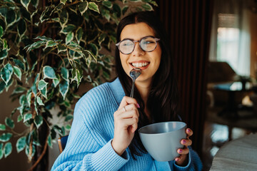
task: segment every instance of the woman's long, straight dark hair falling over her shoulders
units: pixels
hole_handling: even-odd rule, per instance
[[[161,63],[153,76],[151,83],[151,90],[148,95],[146,104],[143,103],[141,95],[138,90],[134,91],[134,98],[136,98],[141,108],[139,111],[138,128],[148,125],[150,123],[159,123],[163,121],[178,120],[176,112],[178,102],[178,88],[173,71],[173,60],[171,57],[171,46],[164,29],[161,27],[161,21],[151,11],[143,11],[131,14],[122,19],[117,29],[117,42],[121,41],[121,31],[128,24],[146,23],[153,28],[156,38],[160,38],[159,44],[161,46]],[[116,73],[124,88],[125,94],[129,96],[131,91],[131,78],[126,75],[121,66],[121,59],[119,56],[119,49],[116,47]],[[148,119],[144,108],[147,108],[151,120]],[[134,155],[141,155],[140,152],[146,152],[143,144],[139,138],[138,131],[136,131],[134,138],[129,145],[129,150],[134,160]]]

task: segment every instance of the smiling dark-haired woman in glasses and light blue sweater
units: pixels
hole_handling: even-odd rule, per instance
[[[157,162],[146,152],[138,128],[178,120],[178,90],[170,46],[152,12],[126,16],[117,30],[118,78],[84,95],[74,110],[74,121],[64,152],[52,170],[201,170],[191,150],[193,132],[186,129],[181,154],[170,162]],[[135,98],[129,98],[132,68],[141,68]]]

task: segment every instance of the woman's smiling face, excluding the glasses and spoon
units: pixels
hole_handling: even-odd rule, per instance
[[[125,38],[139,41],[146,36],[155,37],[153,28],[145,23],[129,24],[121,31],[121,41]],[[137,42],[132,53],[125,55],[120,52],[119,54],[121,65],[128,76],[132,68],[141,68],[141,75],[136,79],[136,82],[151,83],[151,78],[158,70],[161,62],[161,47],[159,43],[157,43],[154,51],[146,52],[140,48]]]

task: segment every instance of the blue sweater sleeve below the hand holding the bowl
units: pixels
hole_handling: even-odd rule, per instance
[[[171,170],[173,171],[201,171],[203,169],[203,164],[200,160],[198,154],[192,150],[192,147],[188,146],[189,154],[188,154],[188,165],[185,167],[181,167],[176,165],[176,161],[173,160],[169,162],[171,166]]]

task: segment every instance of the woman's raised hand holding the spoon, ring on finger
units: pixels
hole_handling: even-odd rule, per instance
[[[122,155],[130,145],[138,128],[138,116],[136,99],[124,96],[114,113],[114,139],[111,142],[118,155]]]

